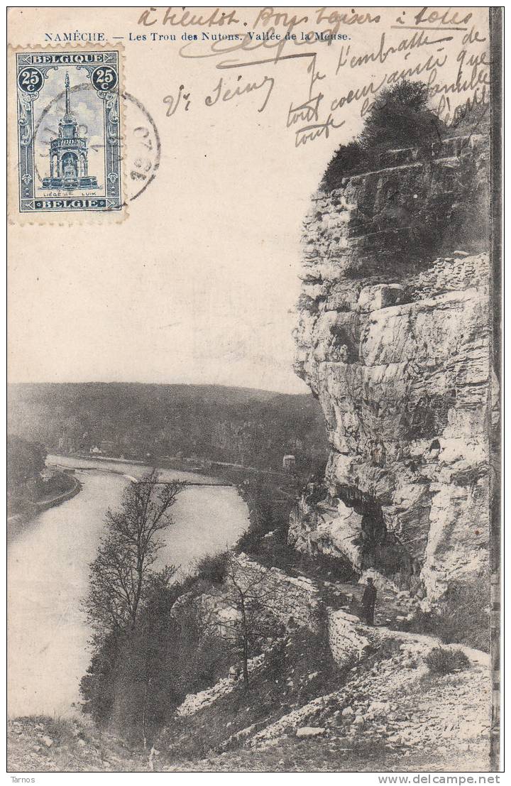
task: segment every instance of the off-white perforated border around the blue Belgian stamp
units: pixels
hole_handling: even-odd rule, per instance
[[[86,211],[76,210],[70,212],[22,212],[19,206],[19,157],[18,157],[18,109],[17,109],[17,54],[24,52],[33,53],[59,53],[59,52],[105,52],[118,53],[119,69],[119,134],[121,151],[119,171],[121,178],[121,208],[120,210]],[[123,148],[127,144],[126,134],[126,106],[124,85],[124,47],[119,42],[115,46],[106,42],[90,42],[87,44],[70,43],[68,45],[31,45],[7,46],[7,216],[11,226],[79,226],[90,224],[119,224],[128,218],[127,195],[127,156]]]

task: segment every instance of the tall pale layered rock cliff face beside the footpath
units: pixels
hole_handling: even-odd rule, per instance
[[[436,600],[487,573],[487,140],[382,163],[316,193],[304,222],[296,371],[331,453],[289,539]]]

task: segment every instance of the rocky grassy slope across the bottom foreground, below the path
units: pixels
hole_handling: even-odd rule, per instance
[[[390,641],[350,670],[335,667],[311,641],[295,634],[287,641],[283,676],[275,667],[256,671],[250,691],[241,687],[186,718],[175,718],[154,744],[153,756],[130,750],[111,734],[70,720],[22,718],[9,728],[10,771],[173,772],[400,772],[484,771],[488,769],[487,668],[439,676],[428,673],[421,656],[410,663],[399,642]],[[384,711],[368,707],[383,701]],[[312,703],[311,703],[312,702]],[[275,733],[271,725],[285,718]],[[352,725],[344,707],[363,712]],[[312,709],[311,709],[312,708]],[[365,708],[365,709],[364,709]],[[488,720],[489,723],[489,720]],[[254,726],[248,736],[234,738]],[[296,728],[320,726],[321,736],[296,738]],[[251,747],[252,736],[265,740]],[[46,747],[44,737],[52,740]]]

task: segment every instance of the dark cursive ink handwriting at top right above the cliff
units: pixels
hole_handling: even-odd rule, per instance
[[[216,79],[200,98],[207,107],[236,106],[252,95],[259,97],[257,112],[265,112],[281,73],[289,74],[289,69],[277,67],[292,63],[297,95],[289,97],[282,119],[299,148],[329,138],[346,124],[346,116],[356,133],[354,118],[360,128],[380,90],[403,80],[425,83],[429,104],[446,125],[487,105],[490,61],[487,28],[477,26],[480,12],[429,6],[377,12],[328,6],[215,8],[207,13],[150,7],[139,15],[138,24],[230,28],[226,34],[203,30],[181,36],[181,57],[211,61],[221,72],[239,72],[235,79]],[[380,30],[377,35],[361,34],[364,26]],[[253,72],[246,79],[245,69]],[[167,117],[179,109],[188,111],[191,100],[184,86],[167,95]]]

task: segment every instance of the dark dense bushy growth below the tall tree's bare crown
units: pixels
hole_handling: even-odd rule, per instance
[[[189,583],[156,575],[137,626],[97,641],[81,682],[83,711],[148,747],[187,693],[213,684],[230,665],[223,642],[204,631],[200,609],[176,601]]]

